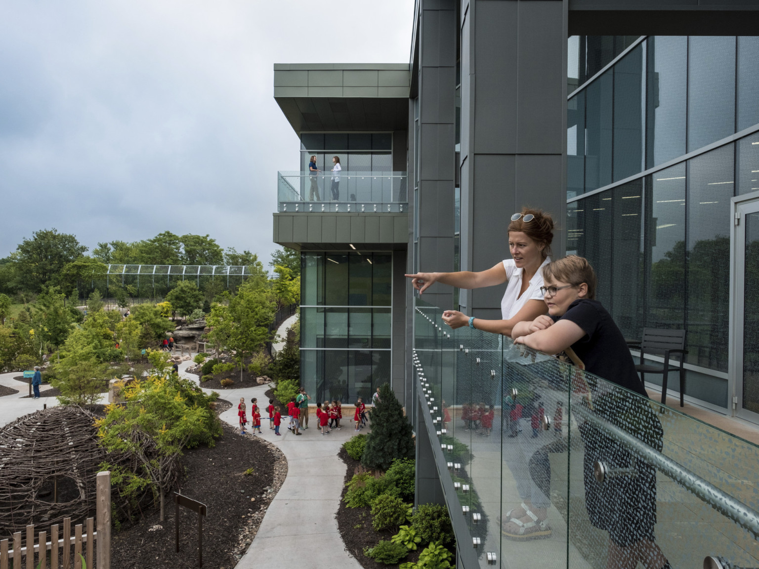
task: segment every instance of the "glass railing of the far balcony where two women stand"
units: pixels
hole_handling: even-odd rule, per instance
[[[278,172],[279,212],[405,212],[406,172]]]

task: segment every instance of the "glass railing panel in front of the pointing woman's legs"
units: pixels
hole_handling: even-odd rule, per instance
[[[567,562],[565,382],[553,360],[524,357],[504,338],[501,392],[502,567],[559,569]]]

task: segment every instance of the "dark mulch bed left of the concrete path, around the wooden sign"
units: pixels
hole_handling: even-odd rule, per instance
[[[216,402],[221,413],[229,401]],[[253,540],[263,514],[287,476],[287,460],[275,445],[259,437],[239,435],[224,423],[213,448],[184,451],[186,477],[177,489],[208,507],[203,520],[203,567],[235,567]],[[254,473],[245,476],[247,468]],[[253,498],[254,501],[251,501]],[[180,508],[180,552],[175,552],[174,504],[166,498],[166,517],[153,511],[134,526],[114,531],[112,567],[197,567],[197,514]]]

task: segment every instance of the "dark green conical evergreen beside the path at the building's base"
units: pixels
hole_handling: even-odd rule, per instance
[[[389,383],[379,388],[379,402],[372,410],[371,421],[361,464],[372,470],[388,470],[396,458],[414,457],[411,423]]]

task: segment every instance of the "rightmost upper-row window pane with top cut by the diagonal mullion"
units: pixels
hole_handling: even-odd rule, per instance
[[[643,46],[614,65],[614,181],[643,171]]]

